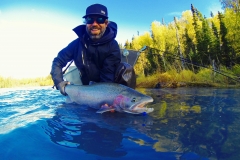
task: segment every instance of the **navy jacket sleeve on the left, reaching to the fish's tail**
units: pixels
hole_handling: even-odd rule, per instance
[[[69,61],[73,59],[74,53],[77,53],[78,44],[79,39],[72,41],[67,47],[63,48],[58,53],[57,57],[53,59],[50,74],[55,86],[63,81],[62,69],[67,65]]]

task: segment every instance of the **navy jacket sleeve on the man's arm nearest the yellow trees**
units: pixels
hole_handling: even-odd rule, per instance
[[[110,53],[103,61],[103,67],[100,69],[101,82],[114,82],[115,71],[121,62],[121,52],[116,40],[112,41]]]

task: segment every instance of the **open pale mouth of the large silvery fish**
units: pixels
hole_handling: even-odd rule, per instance
[[[128,112],[128,113],[132,113],[132,114],[140,114],[140,113],[150,113],[150,112],[153,112],[153,108],[147,108],[146,107],[146,104],[148,103],[151,103],[153,102],[153,99],[148,99],[148,100],[145,100],[143,102],[139,102],[139,103],[136,103],[134,105],[132,105],[129,110],[125,111],[125,112]]]

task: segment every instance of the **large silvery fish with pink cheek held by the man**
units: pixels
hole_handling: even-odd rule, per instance
[[[153,108],[146,104],[153,102],[151,96],[118,83],[99,82],[90,85],[65,87],[66,103],[77,103],[98,109],[96,113],[126,112],[131,114],[151,113]]]

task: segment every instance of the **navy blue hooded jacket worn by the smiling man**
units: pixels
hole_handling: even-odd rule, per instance
[[[110,22],[104,35],[97,41],[92,41],[87,32],[86,25],[73,29],[78,38],[63,48],[52,62],[51,75],[57,86],[63,81],[62,68],[74,60],[81,72],[84,85],[89,81],[114,82],[117,66],[121,62],[120,48],[115,40],[117,24]]]

